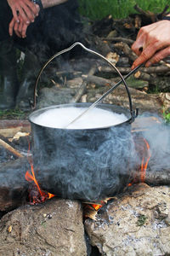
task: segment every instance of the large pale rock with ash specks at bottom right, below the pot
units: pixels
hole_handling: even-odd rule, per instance
[[[169,255],[169,195],[167,186],[132,186],[101,209],[96,221],[85,221],[91,244],[103,256]]]

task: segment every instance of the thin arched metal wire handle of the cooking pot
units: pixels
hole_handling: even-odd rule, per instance
[[[127,87],[127,83],[125,81],[125,79],[122,77],[122,73],[120,73],[120,71],[117,69],[117,67],[115,65],[113,65],[111,63],[111,61],[108,61],[103,55],[100,55],[98,52],[92,50],[92,49],[88,49],[87,47],[85,47],[82,43],[79,43],[79,42],[76,42],[75,44],[72,44],[69,48],[67,49],[63,49],[61,51],[59,51],[58,53],[56,53],[55,55],[53,55],[50,59],[48,59],[48,61],[43,65],[42,69],[40,70],[40,72],[38,73],[38,76],[37,76],[37,81],[36,81],[36,84],[35,84],[35,87],[34,87],[34,99],[33,99],[33,105],[32,105],[32,109],[35,109],[36,108],[36,95],[37,95],[37,84],[38,84],[38,81],[40,79],[40,76],[42,74],[42,71],[44,70],[45,67],[48,66],[48,64],[54,60],[55,57],[59,56],[59,55],[62,55],[64,54],[65,52],[68,52],[70,51],[71,49],[73,49],[75,46],[81,46],[82,49],[85,49],[86,51],[88,51],[89,53],[92,53],[94,55],[98,55],[100,58],[104,59],[105,61],[107,61],[111,67],[113,67],[115,70],[116,70],[116,73],[118,73],[118,75],[120,76],[120,78],[122,79],[122,83],[125,85],[125,88],[127,90],[127,96],[128,96],[128,100],[129,100],[129,108],[130,108],[130,113],[131,113],[131,122],[133,122],[133,120],[137,117],[138,115],[138,109],[136,109],[135,111],[133,111],[133,104],[132,104],[132,99],[131,99],[131,95],[130,95],[130,91]],[[133,73],[133,71],[131,72]],[[121,83],[120,83],[121,84]]]

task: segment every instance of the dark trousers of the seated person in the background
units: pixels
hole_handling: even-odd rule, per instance
[[[0,46],[4,40],[11,40],[22,51],[30,49],[37,55],[54,55],[80,39],[81,22],[77,13],[77,0],[69,0],[58,6],[43,9],[34,23],[27,28],[26,38],[18,38],[15,33],[8,35],[8,24],[12,12],[7,0],[0,3]]]

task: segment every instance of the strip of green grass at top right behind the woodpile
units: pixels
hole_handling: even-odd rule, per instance
[[[133,9],[135,4],[153,13],[161,13],[166,5],[170,5],[169,0],[78,0],[78,2],[81,15],[90,20],[101,20],[107,15],[112,15],[113,19],[126,18],[129,14],[136,13]]]

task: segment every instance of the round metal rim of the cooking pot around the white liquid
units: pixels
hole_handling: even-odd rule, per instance
[[[94,130],[104,130],[104,129],[109,129],[111,127],[116,127],[118,125],[124,125],[124,124],[131,124],[133,122],[133,119],[131,117],[131,113],[130,111],[127,109],[127,108],[122,108],[121,106],[117,106],[117,105],[113,105],[113,104],[107,104],[107,103],[99,103],[97,107],[95,108],[99,108],[99,107],[103,107],[101,109],[107,109],[109,110],[110,109],[113,109],[113,108],[119,108],[120,110],[122,110],[126,117],[127,117],[127,120],[122,122],[122,123],[119,123],[119,124],[116,124],[116,125],[108,125],[108,126],[105,126],[105,127],[94,127],[94,128],[58,128],[58,127],[50,127],[50,126],[46,126],[46,125],[39,125],[37,124],[36,122],[34,122],[32,120],[32,118],[34,118],[35,116],[37,116],[38,114],[40,113],[43,113],[45,112],[46,110],[49,110],[49,109],[53,109],[53,108],[68,108],[68,107],[78,107],[78,108],[84,108],[84,107],[89,107],[90,105],[92,105],[91,102],[77,102],[77,103],[66,103],[66,104],[58,104],[58,105],[52,105],[52,106],[48,106],[48,107],[45,107],[45,108],[39,108],[37,110],[34,110],[28,117],[28,120],[30,121],[31,124],[34,124],[34,125],[37,125],[39,127],[43,127],[43,128],[50,128],[50,129],[56,129],[56,130],[63,130],[63,131],[94,131]],[[129,117],[127,116],[129,115]]]

